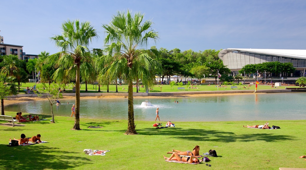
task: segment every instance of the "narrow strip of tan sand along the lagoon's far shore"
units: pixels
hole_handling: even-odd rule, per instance
[[[178,94],[178,95],[169,95],[169,96],[134,96],[134,98],[201,97],[201,96],[228,96],[228,95],[252,95],[252,94],[253,93]],[[63,96],[63,99],[74,99],[74,98],[75,98],[74,96]],[[127,98],[127,96],[82,96],[80,98],[81,99]],[[21,103],[21,102],[39,101],[39,100],[47,100],[47,97],[8,97],[4,100],[4,106]]]

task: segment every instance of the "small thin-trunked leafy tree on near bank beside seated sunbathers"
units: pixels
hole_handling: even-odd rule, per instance
[[[64,84],[56,84],[51,83],[50,85],[46,85],[45,83],[42,83],[42,86],[38,88],[39,93],[37,93],[38,97],[46,96],[50,106],[51,106],[51,115],[52,115],[52,121],[51,123],[55,123],[54,121],[54,114],[53,114],[53,104],[56,104],[57,102],[55,99],[58,100],[58,98],[62,98],[62,93],[60,93],[60,88],[65,88]]]

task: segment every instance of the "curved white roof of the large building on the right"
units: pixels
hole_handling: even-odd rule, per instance
[[[286,49],[252,49],[252,48],[226,48],[219,52],[218,57],[220,59],[231,51],[244,51],[250,53],[259,53],[265,55],[275,55],[280,57],[306,59],[306,50],[286,50]]]

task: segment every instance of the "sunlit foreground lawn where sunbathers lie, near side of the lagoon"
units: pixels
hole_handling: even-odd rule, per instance
[[[6,112],[6,115],[15,115]],[[27,115],[27,114],[24,114]],[[40,117],[50,120],[49,116]],[[175,127],[155,129],[154,122],[135,121],[138,135],[124,135],[126,120],[80,119],[83,130],[71,130],[74,118],[55,117],[50,121],[25,122],[26,126],[0,126],[0,169],[203,169],[205,164],[165,162],[162,155],[172,149],[192,150],[200,154],[215,149],[218,157],[209,157],[210,169],[278,169],[306,167],[306,120],[270,121],[282,129],[250,129],[242,125],[265,121],[174,122]],[[0,121],[3,123],[4,121]],[[166,124],[166,122],[163,122]],[[103,128],[88,128],[88,126]],[[9,138],[40,133],[49,143],[7,147]],[[110,150],[106,156],[89,156],[84,149]]]

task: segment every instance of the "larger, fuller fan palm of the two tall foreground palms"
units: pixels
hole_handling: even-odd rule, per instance
[[[156,41],[158,33],[152,30],[152,22],[144,21],[144,15],[130,11],[118,12],[113,16],[108,25],[103,25],[106,37],[105,51],[107,54],[103,57],[106,65],[106,75],[113,80],[117,79],[118,73],[121,73],[120,79],[128,83],[128,129],[126,134],[137,134],[134,123],[133,106],[133,80],[139,77],[147,86],[152,86],[155,82],[156,71],[161,70],[161,65],[154,60],[157,50],[137,49],[147,45],[148,39]]]

